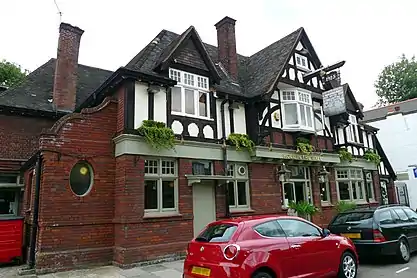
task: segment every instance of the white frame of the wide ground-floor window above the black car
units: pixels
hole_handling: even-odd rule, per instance
[[[347,172],[346,177],[339,176],[339,173],[342,171]],[[353,174],[353,173],[359,173],[359,172],[360,172],[360,176]],[[338,168],[336,169],[335,176],[336,176],[337,199],[339,201],[351,201],[351,202],[356,202],[356,203],[366,202],[365,182],[363,178],[363,171],[361,168]],[[345,182],[348,184],[349,199],[344,199],[344,200],[340,199],[339,182]],[[353,198],[353,187],[355,187],[356,192],[358,192],[358,194],[360,193],[359,190],[361,190],[363,198],[357,198],[357,199]]]

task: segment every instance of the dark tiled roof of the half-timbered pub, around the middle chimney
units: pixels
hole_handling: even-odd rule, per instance
[[[179,46],[190,30],[195,31],[192,26],[182,35],[162,30],[126,67],[155,74],[158,64],[172,55],[175,47]],[[284,69],[302,34],[305,34],[304,29],[299,28],[250,57],[238,54],[238,81],[233,80],[218,62],[217,47],[203,43],[221,78],[220,84],[215,85],[216,90],[245,97],[266,93]],[[315,53],[313,54],[316,56]]]

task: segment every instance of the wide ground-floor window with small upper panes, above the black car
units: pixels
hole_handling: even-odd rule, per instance
[[[365,200],[365,187],[361,169],[336,170],[336,184],[339,200]]]

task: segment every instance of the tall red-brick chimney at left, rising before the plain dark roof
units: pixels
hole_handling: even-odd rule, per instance
[[[83,33],[83,30],[68,23],[59,26],[53,102],[60,111],[72,112],[75,109],[78,53]]]

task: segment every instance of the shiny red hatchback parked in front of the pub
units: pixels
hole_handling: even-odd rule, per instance
[[[187,248],[183,278],[355,278],[355,246],[302,218],[213,222]]]

